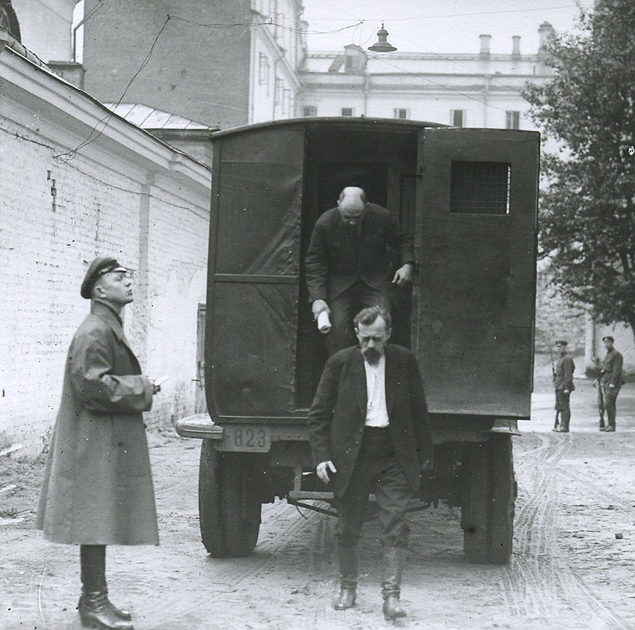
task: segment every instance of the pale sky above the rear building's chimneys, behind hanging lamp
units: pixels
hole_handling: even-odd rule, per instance
[[[304,0],[309,29],[340,31],[308,36],[309,50],[339,50],[347,44],[372,45],[382,20],[389,42],[401,52],[478,52],[479,35],[492,36],[491,52],[511,52],[511,36],[521,36],[521,52],[538,49],[538,27],[550,22],[571,31],[578,4],[593,0]]]

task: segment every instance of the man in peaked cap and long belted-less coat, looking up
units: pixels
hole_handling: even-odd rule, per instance
[[[80,545],[82,623],[118,630],[133,626],[107,597],[105,546],[158,545],[142,412],[159,387],[122,328],[131,283],[112,257],[96,258],[82,283],[91,312],[68,350],[36,522],[47,540]]]

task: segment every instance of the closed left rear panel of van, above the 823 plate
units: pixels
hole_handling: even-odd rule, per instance
[[[294,409],[303,170],[302,126],[214,142],[205,354],[216,422]]]

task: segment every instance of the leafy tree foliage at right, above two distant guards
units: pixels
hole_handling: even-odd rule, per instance
[[[635,1],[600,1],[547,52],[555,77],[525,91],[561,147],[543,158],[541,254],[567,301],[635,333]]]

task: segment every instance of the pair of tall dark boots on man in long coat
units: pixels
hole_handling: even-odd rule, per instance
[[[82,625],[89,628],[133,630],[127,610],[108,599],[105,545],[81,545],[82,595],[77,603]]]

